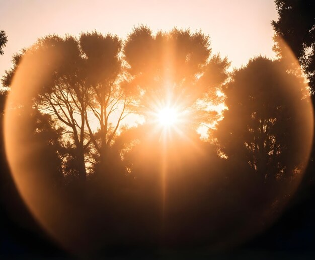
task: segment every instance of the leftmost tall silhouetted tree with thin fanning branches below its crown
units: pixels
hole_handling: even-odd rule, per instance
[[[3,83],[5,86],[11,86],[10,79],[13,78],[24,55],[31,56],[35,62],[41,63],[39,66],[47,69],[52,54],[60,57],[60,60],[57,68],[52,68],[52,76],[41,83],[38,93],[33,97],[33,106],[53,114],[63,125],[64,133],[70,137],[70,142],[65,146],[68,146],[69,154],[75,158],[75,168],[79,177],[85,179],[84,153],[88,142],[84,132],[87,89],[80,78],[83,61],[77,41],[70,36],[63,39],[56,35],[39,39],[20,56],[14,56],[14,67],[7,72]]]

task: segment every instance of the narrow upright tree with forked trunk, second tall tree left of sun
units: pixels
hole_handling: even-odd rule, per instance
[[[91,88],[89,109],[97,123],[93,129],[91,115],[86,114],[90,140],[97,151],[99,168],[105,167],[108,152],[127,113],[130,100],[120,86],[123,73],[120,52],[122,42],[117,36],[97,32],[80,36],[80,46],[86,55],[86,85]],[[103,169],[104,170],[104,169]]]

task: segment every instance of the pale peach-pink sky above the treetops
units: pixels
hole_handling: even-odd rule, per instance
[[[125,38],[140,24],[153,32],[201,29],[210,36],[213,53],[240,67],[256,55],[275,57],[271,21],[277,17],[273,0],[0,0],[0,29],[8,36],[0,77],[14,53],[45,35],[97,30]]]

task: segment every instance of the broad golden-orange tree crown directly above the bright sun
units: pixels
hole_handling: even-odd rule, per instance
[[[183,114],[186,125],[213,123],[217,113],[207,109],[227,79],[227,58],[211,55],[209,37],[174,28],[156,35],[146,26],[133,29],[124,44],[130,74],[129,91],[137,97],[135,110],[146,118],[164,107]],[[198,102],[202,101],[202,102]]]

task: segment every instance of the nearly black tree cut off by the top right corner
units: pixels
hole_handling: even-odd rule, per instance
[[[276,0],[278,21],[272,21],[275,30],[274,49],[280,57],[285,58],[287,46],[298,58],[309,80],[315,88],[315,2],[312,0]]]

